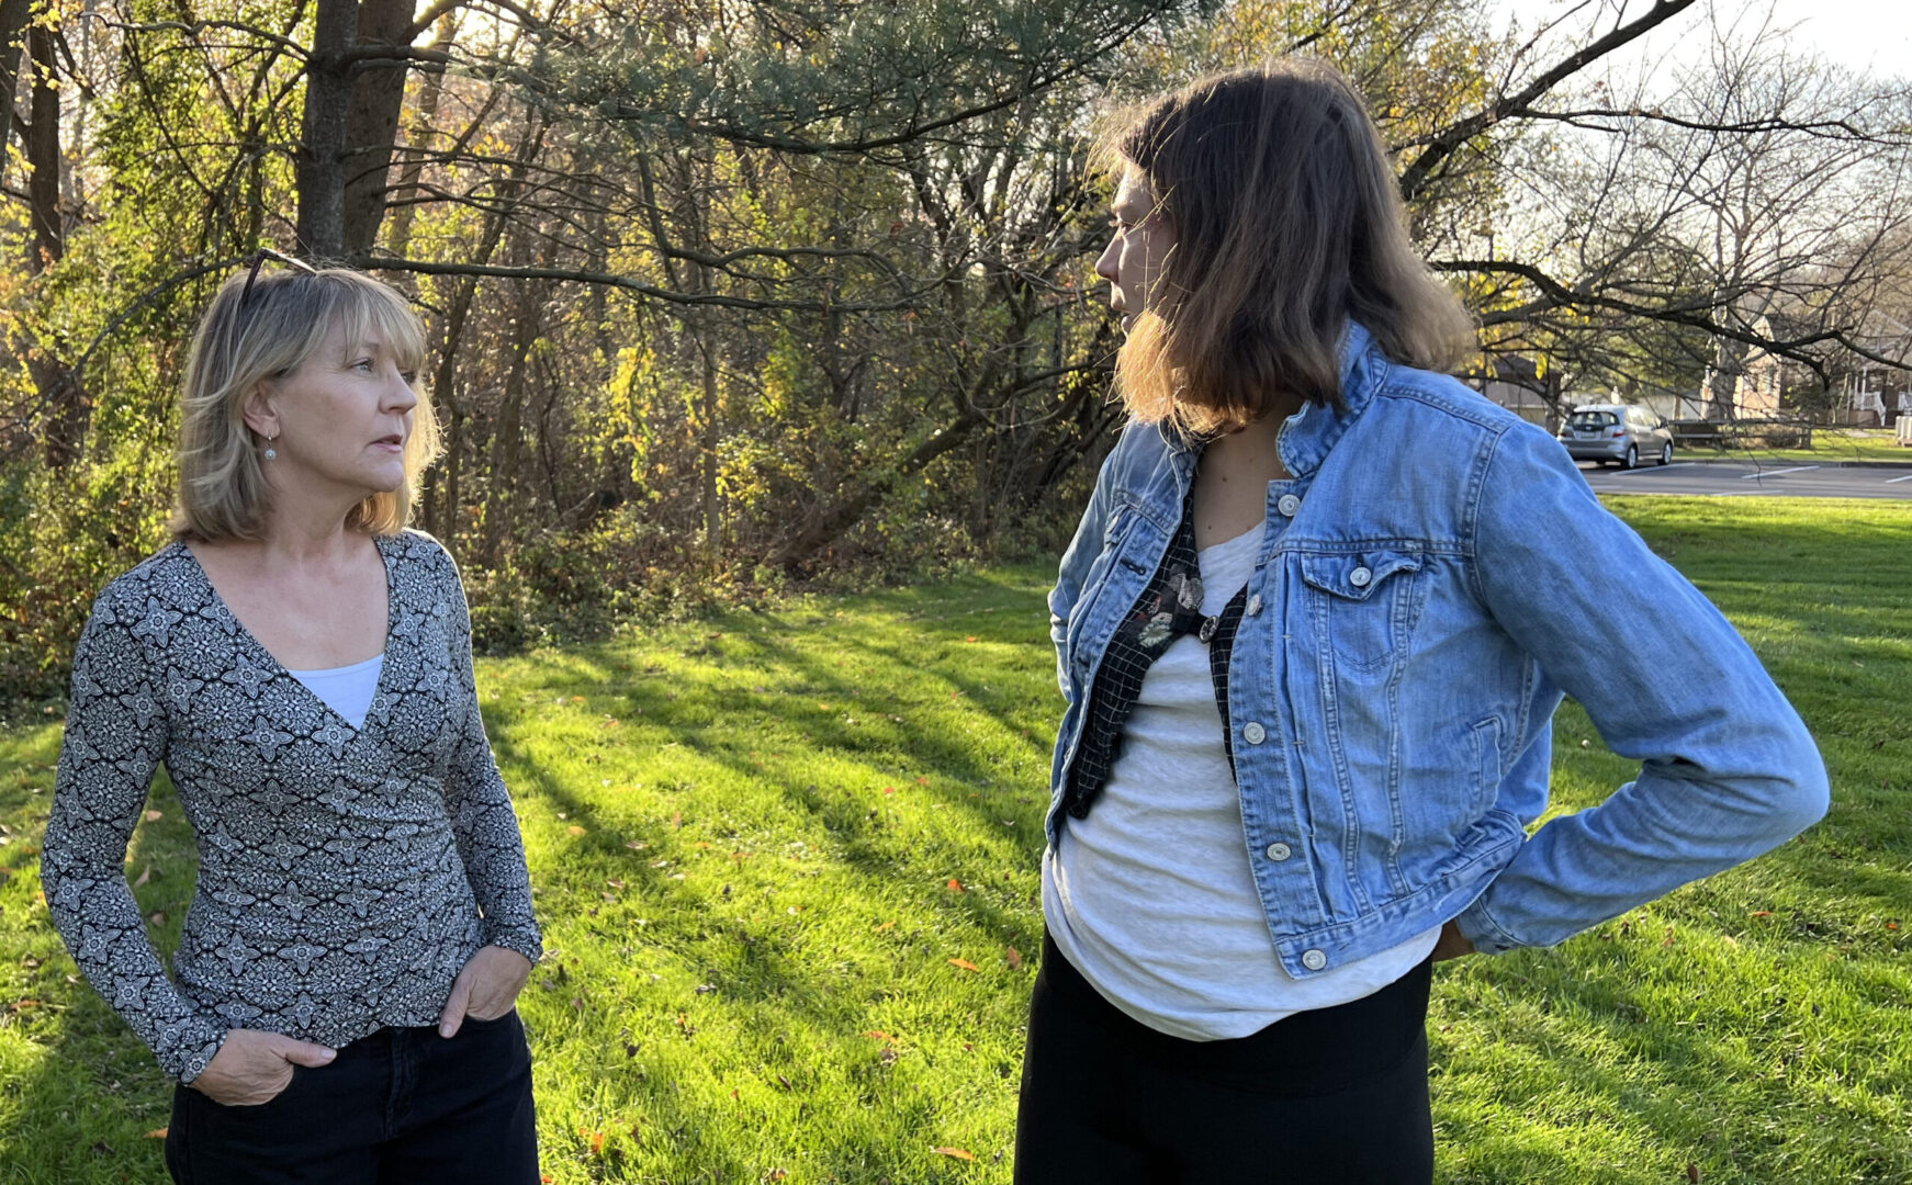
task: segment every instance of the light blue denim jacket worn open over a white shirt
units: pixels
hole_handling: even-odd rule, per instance
[[[1482,952],[1551,946],[1826,812],[1818,749],[1759,659],[1553,438],[1361,325],[1340,365],[1344,407],[1281,428],[1291,478],[1268,485],[1229,663],[1243,839],[1291,975],[1451,917]],[[1063,556],[1050,847],[1088,690],[1197,459],[1130,424]],[[1562,694],[1640,772],[1530,835]]]

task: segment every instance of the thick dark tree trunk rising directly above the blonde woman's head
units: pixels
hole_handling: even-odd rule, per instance
[[[346,128],[352,120],[352,67],[346,50],[358,31],[358,0],[317,0],[306,113],[293,182],[298,187],[298,250],[337,260],[346,247]]]

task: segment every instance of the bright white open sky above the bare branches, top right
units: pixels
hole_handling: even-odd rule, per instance
[[[1811,46],[1836,65],[1855,71],[1872,69],[1879,75],[1912,76],[1912,0],[1713,0],[1723,13],[1751,8],[1772,10],[1776,29],[1792,29],[1793,44]],[[1585,29],[1595,11],[1604,11],[1600,29],[1612,29],[1612,13],[1621,0],[1497,0],[1501,25],[1518,17],[1524,29],[1566,15],[1560,29]],[[1702,38],[1681,36],[1704,27],[1707,0],[1673,17],[1650,44],[1633,50],[1633,61],[1644,55],[1679,55],[1683,44],[1704,44]],[[1577,11],[1575,11],[1577,8]],[[1646,13],[1650,0],[1625,0],[1629,15]],[[1621,57],[1625,59],[1625,57]]]

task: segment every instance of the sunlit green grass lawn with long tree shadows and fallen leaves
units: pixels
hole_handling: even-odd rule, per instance
[[[1447,963],[1445,1183],[1912,1181],[1912,505],[1616,499],[1824,745],[1830,818],[1551,952]],[[1010,1179],[1059,700],[1046,568],[480,665],[551,958],[560,1183]],[[1558,719],[1556,801],[1627,776]],[[36,902],[57,722],[0,732],[0,1179],[157,1181],[166,1084]],[[161,786],[128,875],[191,896]],[[1698,1174],[1698,1175],[1694,1175]]]

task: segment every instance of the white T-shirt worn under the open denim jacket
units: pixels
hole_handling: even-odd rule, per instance
[[[1249,583],[1262,529],[1197,552],[1205,615]],[[1184,635],[1143,675],[1096,808],[1067,820],[1061,847],[1042,854],[1042,916],[1063,958],[1115,1007],[1193,1042],[1379,992],[1440,937],[1436,927],[1289,977],[1254,887],[1222,730],[1208,646]]]

